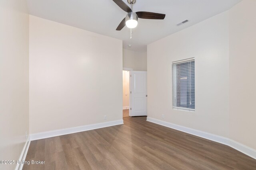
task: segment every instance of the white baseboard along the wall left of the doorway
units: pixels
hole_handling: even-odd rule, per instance
[[[67,134],[70,134],[70,133],[89,131],[89,130],[92,130],[92,129],[99,129],[99,128],[102,128],[102,127],[109,127],[109,126],[121,125],[121,124],[124,124],[123,119],[116,120],[116,121],[108,121],[108,122],[104,122],[104,123],[96,123],[96,124],[91,124],[91,125],[85,125],[85,126],[71,127],[71,128],[66,128],[66,129],[59,129],[59,130],[55,130],[55,131],[34,133],[34,134],[30,134],[30,140],[34,141],[34,140],[38,140],[38,139],[45,139],[45,138],[49,138],[49,137],[67,135]]]

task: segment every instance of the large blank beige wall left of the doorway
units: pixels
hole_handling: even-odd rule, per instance
[[[122,119],[121,40],[35,16],[29,40],[30,133]]]

